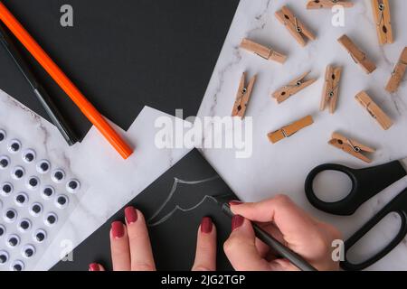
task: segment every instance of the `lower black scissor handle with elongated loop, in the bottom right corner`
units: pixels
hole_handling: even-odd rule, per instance
[[[372,256],[371,258],[367,259],[366,261],[354,264],[347,260],[347,252],[351,247],[355,245],[361,238],[364,237],[374,226],[376,226],[384,217],[389,215],[390,213],[397,213],[401,220],[402,224],[400,226],[400,230],[393,238],[393,240],[384,247],[380,252]],[[372,266],[374,263],[379,261],[389,254],[394,247],[400,244],[402,240],[407,235],[407,189],[402,191],[397,197],[395,197],[391,202],[389,202],[382,210],[380,210],[374,218],[370,219],[362,228],[360,228],[355,234],[345,241],[345,261],[341,262],[341,267],[344,270],[350,271],[358,271],[367,268],[368,266]]]

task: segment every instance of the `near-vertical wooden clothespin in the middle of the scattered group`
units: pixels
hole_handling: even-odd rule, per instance
[[[339,97],[339,82],[341,80],[342,67],[327,66],[325,72],[325,84],[322,91],[320,110],[325,110],[329,106],[329,112],[335,113],[337,98]]]

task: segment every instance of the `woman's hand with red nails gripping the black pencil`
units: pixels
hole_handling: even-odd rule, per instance
[[[291,250],[304,257],[317,270],[338,270],[332,259],[332,241],[341,239],[336,228],[312,219],[284,195],[258,203],[231,202],[232,234],[224,252],[236,270],[298,270],[286,259],[277,259],[270,248],[254,236],[251,221]]]

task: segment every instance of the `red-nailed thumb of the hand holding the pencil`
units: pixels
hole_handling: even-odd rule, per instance
[[[223,250],[237,271],[268,271],[269,263],[257,250],[251,222],[236,215],[232,218],[232,233],[223,245]]]

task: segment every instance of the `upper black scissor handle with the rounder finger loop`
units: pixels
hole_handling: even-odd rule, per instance
[[[345,173],[352,182],[352,189],[342,200],[327,202],[317,198],[313,184],[321,172],[335,171]],[[394,182],[402,179],[407,172],[399,161],[385,163],[367,169],[355,170],[344,165],[327,163],[317,166],[309,172],[305,182],[305,191],[309,202],[318,210],[327,213],[350,216],[366,201],[383,191]]]

